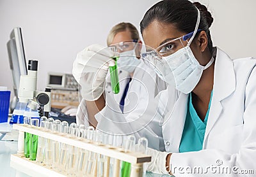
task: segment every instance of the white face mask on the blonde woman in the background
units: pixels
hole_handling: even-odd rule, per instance
[[[117,60],[118,68],[124,69],[129,73],[133,73],[139,64],[140,60],[136,57],[135,49],[120,53],[120,57]]]

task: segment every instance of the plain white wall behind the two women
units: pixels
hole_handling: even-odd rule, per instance
[[[76,53],[93,43],[106,45],[111,27],[131,22],[139,29],[156,0],[0,0],[0,85],[12,90],[6,42],[13,27],[22,27],[26,59],[39,60],[38,89],[48,72],[72,72]],[[255,0],[201,0],[212,11],[214,45],[231,57],[255,56]]]

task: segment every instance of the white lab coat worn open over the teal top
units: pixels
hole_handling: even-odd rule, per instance
[[[217,48],[214,67],[214,85],[211,108],[205,130],[203,150],[179,153],[180,139],[186,120],[188,94],[168,86],[159,94],[164,117],[163,138],[166,152],[172,152],[170,163],[175,176],[202,176],[181,174],[179,167],[230,167],[231,174],[239,176],[232,167],[253,169],[256,173],[256,60],[231,60]],[[166,101],[168,97],[168,101]],[[166,110],[164,110],[166,108]],[[175,171],[173,171],[175,168]],[[183,172],[184,172],[183,171]],[[222,169],[221,169],[222,171]],[[207,176],[213,176],[210,169]],[[252,176],[249,175],[249,176]]]

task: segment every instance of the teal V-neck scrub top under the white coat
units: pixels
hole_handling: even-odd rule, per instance
[[[192,96],[189,94],[188,99],[188,111],[186,115],[186,121],[180,140],[179,152],[193,152],[202,150],[204,142],[205,128],[208,120],[209,110],[211,107],[211,98],[208,106],[207,113],[204,118],[204,122],[198,117],[196,110],[192,104]]]

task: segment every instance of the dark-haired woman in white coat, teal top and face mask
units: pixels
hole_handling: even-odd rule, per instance
[[[241,176],[256,169],[256,60],[232,60],[212,47],[212,21],[204,5],[187,0],[161,1],[141,20],[142,57],[169,83],[159,94],[166,152],[150,150],[149,171]]]

